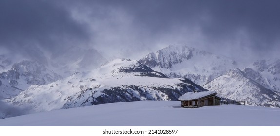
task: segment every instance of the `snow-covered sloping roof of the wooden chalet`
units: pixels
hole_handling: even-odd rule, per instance
[[[214,91],[204,91],[204,92],[187,92],[181,97],[178,98],[180,101],[186,101],[186,100],[194,100],[194,99],[200,99],[205,96],[209,96],[212,94],[215,94]]]

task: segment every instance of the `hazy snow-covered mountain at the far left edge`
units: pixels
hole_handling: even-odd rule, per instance
[[[21,61],[0,73],[0,99],[15,97],[30,85],[46,85],[62,77],[36,61]]]

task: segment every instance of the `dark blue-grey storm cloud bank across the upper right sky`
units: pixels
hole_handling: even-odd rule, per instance
[[[152,0],[153,1],[153,0]],[[232,42],[239,31],[248,34],[250,46],[266,49],[280,36],[279,0],[160,0],[140,4],[135,22],[155,34],[168,33],[174,26],[201,29],[209,42]],[[139,7],[139,6],[138,6]]]

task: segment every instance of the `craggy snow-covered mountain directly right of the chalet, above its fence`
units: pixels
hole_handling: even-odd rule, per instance
[[[252,78],[254,77],[254,78]],[[221,97],[245,101],[246,105],[280,107],[278,92],[268,89],[259,82],[264,81],[260,73],[245,68],[229,70],[224,75],[212,80],[203,87],[216,91]]]

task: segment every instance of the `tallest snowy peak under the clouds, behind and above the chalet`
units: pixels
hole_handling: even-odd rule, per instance
[[[238,67],[234,60],[188,46],[169,46],[148,54],[139,62],[168,77],[185,77],[199,85]]]

